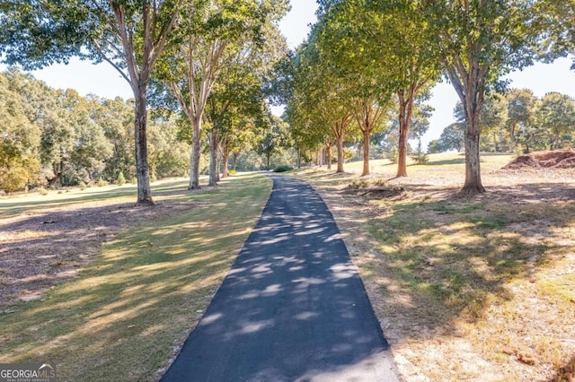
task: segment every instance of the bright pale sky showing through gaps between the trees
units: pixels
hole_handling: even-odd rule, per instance
[[[291,0],[291,12],[279,23],[279,28],[288,40],[290,48],[296,48],[307,37],[309,26],[316,21],[317,4],[313,0]],[[551,65],[535,64],[523,72],[509,75],[514,88],[528,88],[536,97],[547,92],[559,91],[575,98],[575,71],[570,70],[571,58],[562,58]],[[5,66],[0,65],[0,70]],[[72,88],[82,95],[93,93],[104,98],[120,96],[133,97],[132,92],[119,73],[111,65],[102,63],[93,65],[76,58],[69,65],[52,65],[31,72],[37,79],[59,89]],[[444,127],[454,120],[453,109],[458,100],[451,84],[439,83],[432,91],[429,104],[435,109],[429,120],[429,131],[422,138],[423,147],[432,139],[438,139]],[[279,113],[279,109],[275,109]]]

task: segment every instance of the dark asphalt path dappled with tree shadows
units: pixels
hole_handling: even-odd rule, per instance
[[[332,213],[305,182],[270,177],[260,221],[162,380],[399,380]]]

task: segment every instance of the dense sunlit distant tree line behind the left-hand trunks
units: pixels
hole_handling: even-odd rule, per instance
[[[15,67],[0,73],[0,190],[135,181],[133,104],[55,90]],[[151,178],[189,176],[189,121],[177,109],[160,106],[148,115]],[[220,143],[221,161],[215,170],[227,169],[222,161],[232,169],[269,167],[282,147],[285,124],[277,117],[267,124],[260,121],[259,128],[252,119],[239,118],[237,123],[241,128]],[[206,135],[201,144],[208,146]],[[209,172],[208,163],[204,150],[200,173]]]

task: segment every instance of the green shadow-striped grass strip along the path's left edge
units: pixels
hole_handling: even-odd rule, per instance
[[[188,212],[120,233],[75,280],[0,316],[0,362],[51,361],[62,380],[158,378],[243,246],[271,181],[248,175],[208,192],[182,187],[163,183],[154,195],[185,200]]]

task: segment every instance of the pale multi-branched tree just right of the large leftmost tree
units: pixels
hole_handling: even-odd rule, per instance
[[[287,7],[286,0],[217,0],[183,7],[158,75],[190,118],[190,189],[199,188],[201,124],[222,67],[249,49],[248,42],[259,43],[266,22],[279,20]]]

